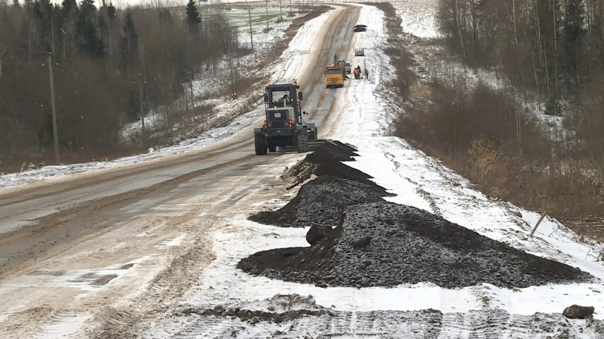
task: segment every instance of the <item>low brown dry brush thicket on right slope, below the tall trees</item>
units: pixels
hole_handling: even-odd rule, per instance
[[[399,117],[397,136],[492,198],[545,211],[569,226],[586,216],[602,220],[604,186],[597,174],[585,173],[589,159],[548,140],[510,95],[481,85],[467,92],[438,82],[413,89],[422,98]]]

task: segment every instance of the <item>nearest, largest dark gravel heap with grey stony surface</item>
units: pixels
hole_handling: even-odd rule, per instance
[[[311,247],[255,253],[239,268],[321,287],[393,287],[432,282],[524,288],[591,279],[561,262],[530,255],[442,217],[385,201],[345,210],[342,224]]]

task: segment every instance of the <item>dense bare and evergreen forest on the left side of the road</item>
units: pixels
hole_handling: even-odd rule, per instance
[[[0,168],[14,170],[24,154],[52,159],[49,54],[63,159],[101,159],[126,152],[124,124],[140,119],[141,107],[173,103],[183,83],[216,67],[236,34],[220,8],[200,13],[193,0],[184,10],[0,1]],[[166,125],[179,114],[164,112]]]

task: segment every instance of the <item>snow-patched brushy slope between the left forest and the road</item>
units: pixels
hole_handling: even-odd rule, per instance
[[[269,7],[269,25],[271,30],[265,31],[265,8],[252,6],[250,7],[251,26],[253,34],[254,49],[250,54],[242,57],[233,58],[234,78],[250,79],[250,78],[265,78],[277,69],[278,65],[271,65],[267,68],[260,68],[257,65],[265,63],[267,55],[274,55],[271,49],[278,41],[284,39],[284,34],[288,30],[289,25],[294,19],[304,16],[306,13],[292,12],[292,16],[283,15],[284,19],[281,22],[276,22],[279,19],[278,7]],[[249,21],[248,10],[242,8],[226,8],[225,17],[234,25],[237,30],[237,45],[242,48],[251,48],[251,40],[249,36]],[[197,133],[198,130],[207,130],[208,128],[216,127],[223,124],[225,121],[230,121],[234,116],[242,112],[242,110],[254,105],[253,98],[258,98],[262,92],[264,81],[258,81],[251,85],[248,90],[239,92],[236,99],[229,95],[222,95],[229,90],[231,81],[230,62],[227,55],[217,64],[216,69],[208,69],[199,72],[195,75],[190,84],[184,83],[183,97],[170,104],[169,107],[161,106],[156,110],[150,110],[145,116],[145,128],[147,131],[162,130],[165,128],[164,112],[167,111],[184,111],[190,107],[211,107],[211,111],[204,113],[203,117],[194,117],[194,121],[189,121],[187,130],[190,133]],[[176,122],[172,127],[175,134],[179,134],[182,124]],[[181,131],[182,132],[182,131]],[[141,121],[131,122],[127,124],[122,131],[122,138],[125,142],[130,142],[133,139],[140,138]],[[182,134],[182,133],[181,133]],[[175,136],[175,141],[181,138]]]

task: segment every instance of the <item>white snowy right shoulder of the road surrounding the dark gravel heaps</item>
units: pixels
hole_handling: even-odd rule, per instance
[[[426,209],[516,249],[579,267],[596,279],[589,283],[527,288],[478,284],[448,289],[431,283],[402,284],[394,288],[323,288],[250,276],[236,268],[240,259],[263,250],[306,247],[308,229],[266,226],[246,220],[247,214],[242,214],[228,221],[214,236],[216,260],[199,277],[198,284],[144,337],[221,337],[235,332],[243,338],[271,334],[273,337],[307,334],[315,338],[321,335],[548,338],[555,334],[597,337],[598,334],[586,326],[586,320],[569,320],[560,313],[573,304],[595,306],[594,318],[604,319],[604,297],[600,293],[604,291],[600,280],[604,278],[604,267],[597,262],[604,250],[602,244],[577,242],[575,233],[550,218],[542,221],[531,238],[528,235],[538,214],[489,200],[467,180],[403,139],[381,136],[389,122],[385,109],[398,110],[378,92],[380,84],[392,74],[391,66],[387,65],[388,57],[379,50],[385,34],[379,29],[384,25],[383,15],[381,11],[364,7],[361,17],[374,25],[367,34],[370,39],[355,38],[353,43],[355,47],[368,49],[366,60],[371,79],[350,81],[338,104],[339,126],[332,130],[332,137],[353,145],[359,154],[355,162],[345,164],[373,176],[374,182],[396,194],[385,198],[388,201]],[[247,212],[281,208],[291,200],[292,194],[296,192],[284,195],[281,201],[250,206]],[[201,311],[196,311],[214,309],[214,313],[220,314],[228,308],[259,314],[292,314],[302,310],[307,315],[250,325],[242,318],[201,315]],[[329,315],[321,313],[326,309]],[[434,315],[439,312],[440,315]],[[547,323],[547,329],[539,324],[541,321]],[[484,328],[487,322],[493,326]]]

